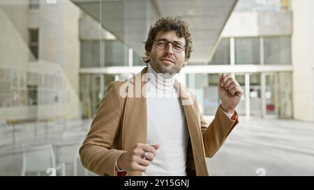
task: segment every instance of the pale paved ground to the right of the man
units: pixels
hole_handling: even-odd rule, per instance
[[[240,118],[211,175],[314,175],[314,122]]]

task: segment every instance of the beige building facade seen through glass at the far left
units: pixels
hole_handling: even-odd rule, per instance
[[[0,1],[0,120],[80,117],[79,19],[70,1]]]

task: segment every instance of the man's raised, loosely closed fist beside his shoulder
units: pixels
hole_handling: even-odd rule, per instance
[[[219,77],[218,93],[223,111],[234,113],[235,107],[239,104],[241,97],[244,95],[244,90],[242,90],[235,79],[223,73]]]

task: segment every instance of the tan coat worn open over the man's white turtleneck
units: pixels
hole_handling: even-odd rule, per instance
[[[146,72],[147,68],[144,68],[132,81],[114,81],[107,87],[89,134],[80,148],[82,164],[90,171],[98,175],[117,175],[115,163],[118,157],[136,143],[147,143],[147,100],[143,95],[138,97],[136,94],[141,89],[145,92],[145,81],[138,79]],[[238,120],[227,118],[219,106],[208,126],[195,95],[177,80],[174,86],[179,90],[190,134],[186,155],[187,173],[209,175],[205,157],[215,155]],[[128,175],[142,173],[130,172]]]

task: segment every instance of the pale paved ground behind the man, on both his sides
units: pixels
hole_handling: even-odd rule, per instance
[[[52,143],[56,152],[63,148],[63,159],[71,161],[66,175],[73,175],[78,148],[70,145],[82,141],[81,134],[87,134],[90,124],[89,120],[66,120],[1,126],[0,175],[20,175],[23,143]],[[314,175],[314,122],[240,117],[208,164],[211,175]],[[82,166],[77,175],[85,175]]]

